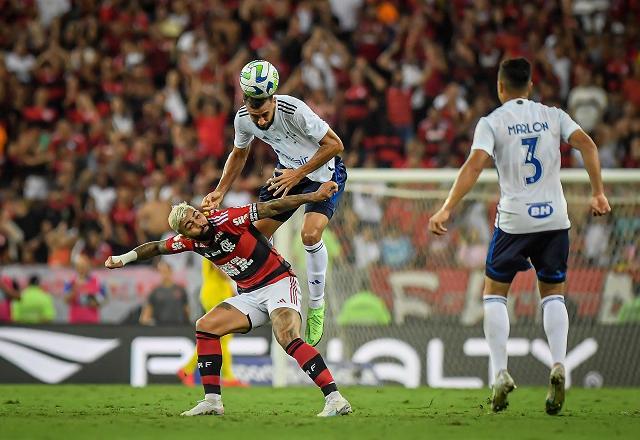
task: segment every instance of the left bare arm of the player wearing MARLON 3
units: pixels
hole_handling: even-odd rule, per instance
[[[451,212],[473,188],[489,159],[491,159],[491,156],[484,150],[471,150],[471,154],[462,165],[462,168],[460,168],[458,177],[453,182],[449,196],[444,201],[442,208],[429,219],[429,230],[431,232],[436,235],[442,235],[447,232],[445,224],[449,220]]]

